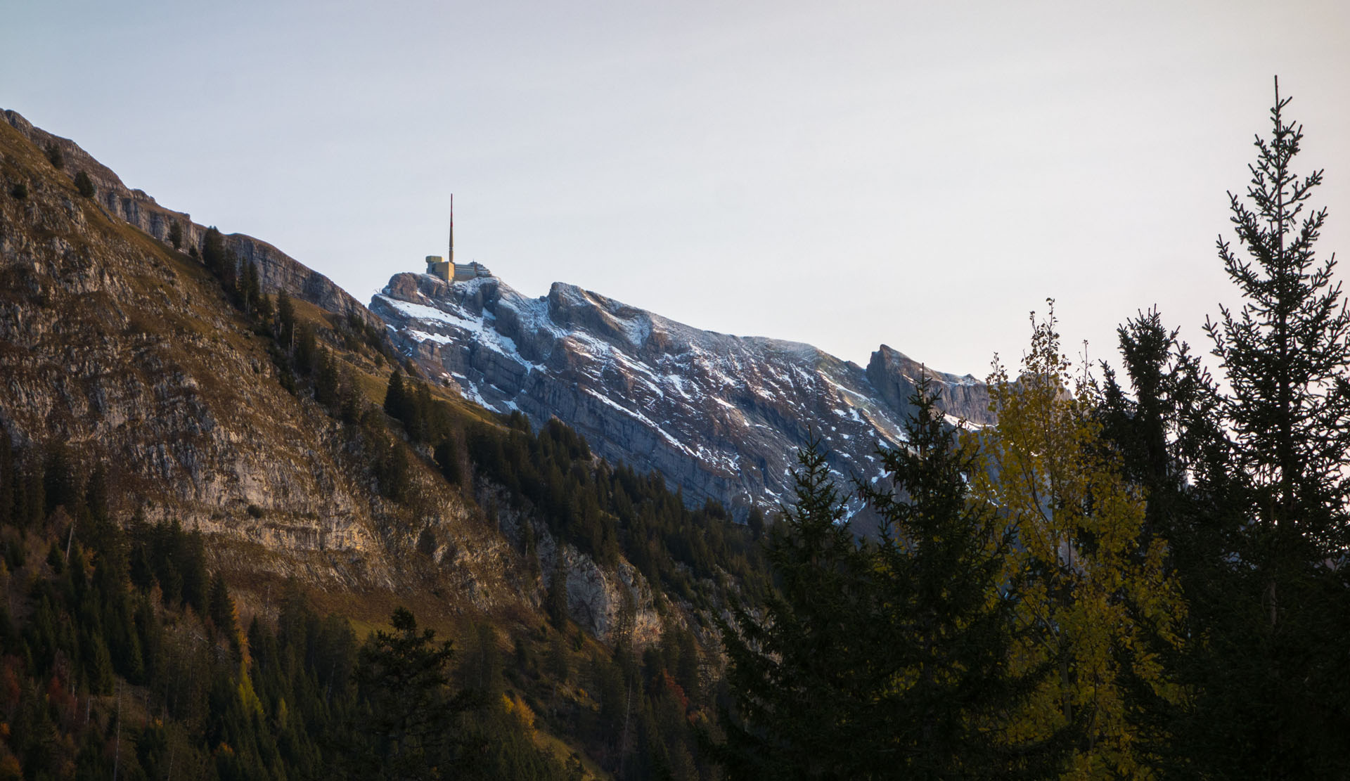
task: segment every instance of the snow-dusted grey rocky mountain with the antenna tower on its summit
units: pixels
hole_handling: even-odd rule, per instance
[[[875,449],[903,441],[927,372],[953,422],[991,421],[975,378],[882,345],[868,366],[809,344],[701,330],[554,283],[529,298],[495,277],[396,274],[370,303],[428,376],[535,425],[556,417],[610,461],[657,471],[694,504],[788,498],[794,453],[819,436],[841,478],[878,475]]]

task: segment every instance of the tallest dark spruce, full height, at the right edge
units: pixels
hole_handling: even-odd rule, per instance
[[[1276,82],[1246,198],[1228,194],[1246,258],[1218,240],[1245,303],[1206,324],[1231,388],[1214,446],[1227,473],[1196,480],[1220,548],[1196,595],[1207,642],[1185,727],[1215,776],[1350,774],[1350,313],[1335,258],[1314,252],[1322,171],[1293,173],[1303,129],[1288,104]]]

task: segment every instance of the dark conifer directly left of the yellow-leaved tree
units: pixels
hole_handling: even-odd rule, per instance
[[[860,727],[859,736],[875,742],[878,763],[868,774],[1046,777],[1058,768],[1065,735],[1014,741],[1004,723],[1050,672],[1045,664],[1014,676],[1007,666],[1022,585],[1006,571],[1013,527],[969,498],[969,478],[983,471],[976,442],[957,440],[938,401],[922,375],[906,445],[878,448],[892,484],[859,483],[882,519],[873,572],[884,606],[876,647],[884,656],[872,664],[888,678]]]

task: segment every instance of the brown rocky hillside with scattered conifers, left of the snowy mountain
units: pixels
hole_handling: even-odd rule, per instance
[[[107,731],[127,685],[142,714],[162,708],[184,751],[225,777],[239,755],[200,742],[215,727],[166,693],[174,665],[215,665],[224,691],[256,684],[261,712],[284,719],[302,696],[286,687],[305,674],[355,685],[319,668],[266,685],[250,672],[267,657],[248,647],[267,646],[270,631],[282,642],[288,610],[332,612],[359,641],[404,604],[464,649],[456,681],[474,680],[474,664],[495,670],[477,680],[504,699],[477,705],[470,723],[516,714],[491,734],[516,747],[487,768],[524,757],[559,773],[579,762],[598,777],[617,768],[648,777],[653,762],[703,772],[688,724],[711,714],[716,664],[698,649],[721,595],[755,588],[761,564],[748,529],[718,507],[684,507],[660,479],[612,468],[566,428],[536,433],[421,382],[378,320],[321,275],[163,209],[72,142],[5,119],[0,641],[18,660],[4,674],[20,695],[0,710],[28,712],[42,697],[23,681],[36,692],[51,677]],[[412,399],[398,409],[386,403],[392,375]],[[144,616],[136,626],[150,646],[132,654],[100,639],[120,619],[86,623],[72,596],[86,571],[108,615]],[[208,604],[216,580],[228,596]],[[178,639],[162,645],[157,626],[177,627]],[[338,643],[331,653],[355,664],[355,641],[321,637],[304,642]],[[108,654],[111,668],[99,661]],[[57,700],[42,701],[61,741],[74,742],[72,757],[93,739]],[[671,707],[680,715],[659,727],[656,714]],[[309,718],[296,746],[319,746],[340,722]],[[108,746],[138,751],[158,739],[148,726],[108,735]],[[23,768],[59,759],[15,739]],[[250,741],[246,776],[281,773],[285,755],[269,754],[262,732]]]

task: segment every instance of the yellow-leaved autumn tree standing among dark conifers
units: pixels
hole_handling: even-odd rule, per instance
[[[1018,584],[1029,631],[1013,664],[1057,670],[1014,719],[1011,738],[1045,738],[1076,723],[1065,778],[1150,778],[1126,719],[1125,676],[1177,697],[1141,622],[1176,642],[1170,633],[1185,608],[1164,576],[1165,541],[1141,542],[1145,498],[1120,478],[1092,420],[1094,384],[1073,378],[1060,353],[1053,302],[1048,320],[1033,316],[1018,376],[995,361],[990,394],[998,425],[987,432],[991,468],[975,492],[1018,533],[1008,581]]]

